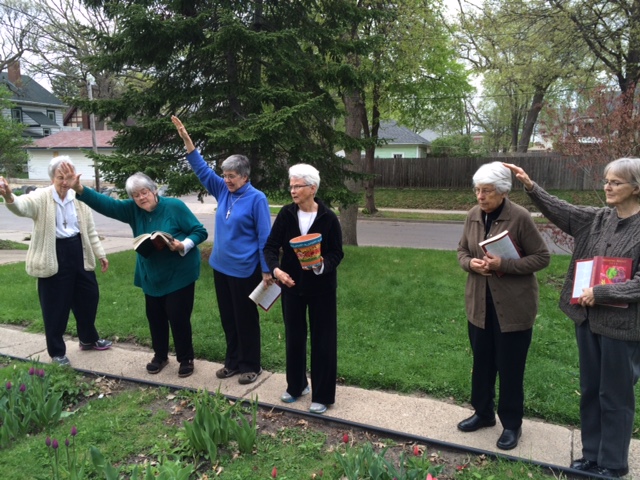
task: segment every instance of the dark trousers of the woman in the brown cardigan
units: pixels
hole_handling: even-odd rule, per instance
[[[487,302],[485,328],[469,323],[473,350],[471,405],[484,418],[493,418],[496,376],[500,378],[498,417],[503,428],[516,430],[524,416],[524,370],[532,329],[502,333],[493,302]]]

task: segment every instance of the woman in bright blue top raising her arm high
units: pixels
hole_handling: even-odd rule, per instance
[[[209,265],[218,299],[220,321],[227,352],[218,378],[240,374],[238,382],[255,382],[262,373],[260,364],[260,315],[249,294],[271,273],[262,249],[271,228],[267,197],[249,181],[251,165],[244,155],[231,155],[220,165],[217,175],[196,150],[182,122],[171,121],[187,149],[187,161],[200,183],[218,202]]]

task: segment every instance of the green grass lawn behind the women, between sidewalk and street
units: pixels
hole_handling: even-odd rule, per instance
[[[98,273],[98,327],[117,341],[150,345],[142,292],[133,287],[134,253],[110,255]],[[559,287],[569,257],[554,255],[539,273],[540,310],[525,378],[526,415],[578,425],[578,364],[573,323],[558,309]],[[196,356],[224,359],[224,334],[213,294],[213,275],[203,263],[196,285],[193,338]],[[471,353],[464,310],[466,274],[455,252],[346,247],[339,269],[338,375],[363,388],[426,393],[465,403]],[[22,263],[0,267],[0,322],[43,331],[35,281]],[[262,362],[284,371],[280,305],[261,314]],[[69,333],[75,334],[74,322]],[[640,421],[636,420],[636,431]],[[637,436],[637,435],[636,435]]]

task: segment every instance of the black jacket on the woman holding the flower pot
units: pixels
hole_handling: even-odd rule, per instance
[[[318,204],[318,213],[308,233],[322,235],[324,270],[321,275],[316,275],[312,270],[303,270],[293,248],[289,245],[289,240],[302,235],[298,226],[299,208],[295,203],[282,207],[264,246],[264,257],[269,271],[273,273],[276,267],[280,267],[296,283],[292,288],[283,285],[284,294],[314,295],[326,293],[338,287],[336,269],[344,257],[340,221],[336,214],[320,200],[316,198],[315,201]]]

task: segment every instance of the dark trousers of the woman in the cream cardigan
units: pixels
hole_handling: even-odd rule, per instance
[[[64,332],[69,312],[76,318],[78,338],[82,343],[96,342],[96,313],[100,297],[94,272],[84,269],[80,235],[56,241],[58,273],[38,278],[38,297],[42,308],[47,352],[51,357],[66,354]]]

